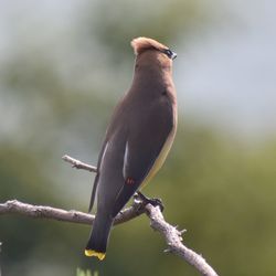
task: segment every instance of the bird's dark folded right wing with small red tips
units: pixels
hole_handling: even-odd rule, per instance
[[[147,113],[146,113],[147,114]],[[124,208],[149,174],[173,129],[173,116],[169,106],[152,110],[141,118],[129,131],[124,157],[123,174],[125,183],[118,193],[113,216]],[[128,180],[131,181],[128,181]]]

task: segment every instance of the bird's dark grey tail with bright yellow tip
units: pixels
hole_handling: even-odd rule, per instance
[[[93,223],[89,241],[85,247],[87,257],[98,257],[103,261],[106,254],[106,246],[113,226],[114,219],[110,215],[96,215]]]

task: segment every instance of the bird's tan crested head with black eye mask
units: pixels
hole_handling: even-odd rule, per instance
[[[172,60],[177,57],[177,54],[168,46],[148,38],[134,39],[131,46],[137,55],[137,61],[141,60],[141,63],[157,61],[161,66],[171,67]]]

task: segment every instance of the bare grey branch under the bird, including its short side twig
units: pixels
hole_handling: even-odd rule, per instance
[[[96,167],[84,163],[70,156],[64,156],[63,160],[72,163],[73,168],[97,172]],[[94,215],[78,211],[65,211],[62,209],[50,206],[31,205],[17,200],[0,203],[0,215],[11,213],[22,214],[36,219],[52,219],[83,224],[92,224],[95,219]],[[168,222],[166,222],[160,208],[148,204],[147,202],[142,201],[139,195],[136,197],[131,206],[125,209],[116,216],[115,224],[127,222],[142,213],[147,213],[148,217],[150,219],[150,226],[164,236],[166,243],[168,245],[168,250],[166,250],[164,252],[170,252],[180,256],[190,265],[192,265],[201,275],[217,276],[214,269],[205,262],[205,259],[201,255],[183,245],[181,235],[184,231],[179,231],[177,227],[173,227]]]

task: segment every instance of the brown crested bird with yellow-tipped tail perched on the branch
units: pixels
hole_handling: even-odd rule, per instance
[[[149,38],[131,41],[136,60],[129,91],[115,107],[98,156],[89,212],[97,201],[86,256],[103,261],[116,215],[161,168],[177,131],[172,60]]]

